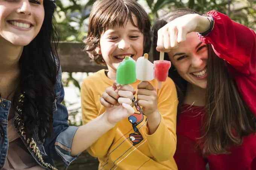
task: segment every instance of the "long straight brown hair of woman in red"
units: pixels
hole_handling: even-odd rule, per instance
[[[175,18],[186,14],[198,13],[186,8],[177,9],[155,23],[154,60],[159,60],[159,52],[155,50],[157,31]],[[235,80],[229,75],[225,61],[214,53],[211,45],[208,45],[208,49],[206,115],[200,138],[203,155],[229,153],[230,146],[241,144],[243,136],[256,132],[255,116],[242,99]],[[165,60],[169,60],[167,54]],[[177,86],[179,103],[182,104],[187,82],[174,69],[170,69],[169,77]]]

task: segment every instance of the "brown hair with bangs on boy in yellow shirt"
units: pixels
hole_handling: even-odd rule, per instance
[[[138,23],[134,23],[133,15]],[[151,23],[148,14],[135,0],[97,0],[90,13],[88,35],[84,40],[85,51],[91,60],[105,65],[101,54],[96,53],[101,34],[108,26],[123,26],[130,20],[144,36],[143,53],[149,53],[151,47]],[[136,26],[137,24],[137,26]]]

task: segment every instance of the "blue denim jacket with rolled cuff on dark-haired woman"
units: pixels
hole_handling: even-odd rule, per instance
[[[64,99],[64,88],[61,82],[61,68],[59,68],[59,73],[55,85],[56,89],[56,100],[53,102],[53,130],[55,135],[52,137],[45,138],[44,141],[40,141],[38,137],[38,127],[34,128],[34,134],[32,138],[40,149],[40,153],[44,162],[50,163],[54,166],[53,160],[64,162],[64,165],[67,167],[70,163],[77,158],[77,156],[73,157],[70,155],[71,152],[71,144],[73,137],[75,135],[76,130],[79,127],[69,126],[68,124],[68,111],[67,108],[61,104]],[[8,114],[11,106],[11,101],[1,99],[0,102],[0,123],[2,124],[3,131],[5,136],[4,140],[2,137],[0,138],[0,169],[3,168],[6,160],[6,155],[8,151],[8,135],[7,135],[7,124],[8,124]],[[17,113],[15,112],[15,117]],[[14,117],[14,120],[15,120]],[[14,121],[15,129],[21,137],[23,143],[27,146],[24,137],[21,136],[20,131],[18,131],[18,125],[16,121]],[[40,164],[35,153],[27,146],[27,149],[31,153],[31,155],[35,158],[35,161]],[[42,166],[42,165],[41,165]],[[45,167],[44,167],[45,168]],[[49,169],[49,168],[45,168]],[[50,169],[49,169],[50,170]]]

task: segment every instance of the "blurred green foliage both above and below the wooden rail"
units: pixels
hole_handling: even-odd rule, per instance
[[[87,36],[90,9],[95,0],[56,0],[57,28],[60,41],[81,42]],[[228,15],[232,20],[256,30],[255,0],[137,0],[147,11],[151,23],[175,8],[191,8],[201,14],[216,10]],[[70,124],[81,125],[81,108],[79,100],[82,80],[88,73],[67,73],[62,75],[64,87],[76,88],[76,96],[67,96],[63,104],[70,113]],[[71,87],[70,87],[71,86]],[[67,89],[67,88],[66,88]],[[70,99],[76,98],[76,99]]]

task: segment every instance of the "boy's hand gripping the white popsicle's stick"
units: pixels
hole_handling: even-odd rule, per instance
[[[138,105],[143,107],[143,113],[146,116],[150,116],[158,110],[157,90],[148,81],[138,84],[137,101]]]

